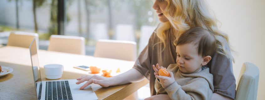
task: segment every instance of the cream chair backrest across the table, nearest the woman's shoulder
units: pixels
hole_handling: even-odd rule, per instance
[[[122,40],[98,40],[94,56],[135,61],[136,42]]]

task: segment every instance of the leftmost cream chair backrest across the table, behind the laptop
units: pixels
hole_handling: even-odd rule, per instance
[[[31,44],[34,38],[36,40],[37,49],[39,49],[39,35],[37,33],[29,33],[22,31],[10,32],[7,46],[29,48],[29,45]]]

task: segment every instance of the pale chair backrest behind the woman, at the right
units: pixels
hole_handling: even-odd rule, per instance
[[[256,100],[259,80],[258,67],[246,62],[243,64],[239,76],[236,100]]]

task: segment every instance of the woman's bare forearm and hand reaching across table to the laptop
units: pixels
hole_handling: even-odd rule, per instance
[[[102,87],[109,87],[126,83],[139,82],[143,79],[144,76],[138,70],[132,68],[125,73],[119,74],[111,78],[106,78],[98,75],[82,76],[80,78],[77,78],[77,80],[79,81],[76,82],[76,84],[80,84],[87,81],[82,87],[80,87],[80,89],[84,89],[92,83],[99,84]]]

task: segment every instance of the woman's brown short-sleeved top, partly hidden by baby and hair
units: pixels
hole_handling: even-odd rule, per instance
[[[133,67],[150,80],[151,95],[156,95],[154,88],[156,78],[152,65],[158,63],[167,68],[170,64],[176,64],[177,53],[173,44],[175,36],[172,32],[167,31],[166,33],[166,48],[162,50],[163,45],[158,43],[160,40],[154,32]],[[233,74],[232,60],[216,53],[205,67],[209,67],[210,73],[213,74],[214,93],[235,99],[236,79]]]

